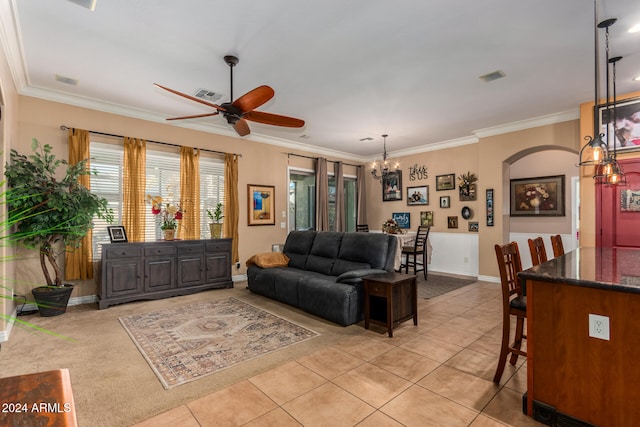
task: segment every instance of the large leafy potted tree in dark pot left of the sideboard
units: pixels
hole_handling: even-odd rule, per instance
[[[38,249],[46,286],[34,288],[32,294],[42,316],[55,316],[66,311],[73,291],[73,285],[62,283],[58,256],[66,247],[80,245],[95,216],[111,222],[113,212],[106,199],[80,183],[82,175],[95,173],[88,170],[88,159],[70,165],[36,139],[31,148],[29,156],[12,149],[5,167],[12,194],[9,221],[16,224],[11,240]],[[60,166],[66,168],[64,175],[57,174]]]

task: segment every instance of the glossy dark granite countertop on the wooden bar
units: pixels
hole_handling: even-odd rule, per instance
[[[640,293],[640,249],[579,248],[518,273],[526,280]]]

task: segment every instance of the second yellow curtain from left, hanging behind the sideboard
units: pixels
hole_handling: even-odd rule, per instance
[[[130,242],[144,241],[146,161],[147,141],[125,136],[122,225]]]

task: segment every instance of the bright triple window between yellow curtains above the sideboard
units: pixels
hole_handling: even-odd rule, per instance
[[[92,142],[91,168],[98,171],[91,176],[91,191],[104,197],[114,212],[114,224],[122,224],[122,175],[124,148],[120,145]],[[204,153],[206,154],[206,153]],[[180,200],[180,154],[153,150],[147,147],[146,192],[160,195],[166,201]],[[224,162],[200,155],[200,237],[209,238],[207,209],[224,204]],[[100,258],[100,245],[109,243],[107,223],[94,220],[93,253]],[[151,208],[145,209],[145,241],[161,239],[160,229]]]

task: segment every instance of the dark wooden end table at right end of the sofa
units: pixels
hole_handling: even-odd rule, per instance
[[[364,328],[369,323],[387,327],[393,338],[393,327],[413,318],[418,324],[418,287],[416,276],[402,273],[374,274],[364,282]]]

